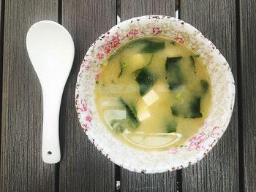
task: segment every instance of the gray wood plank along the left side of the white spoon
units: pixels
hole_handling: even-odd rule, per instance
[[[26,52],[26,32],[39,20],[57,20],[57,3],[5,2],[0,191],[55,188],[55,165],[42,162],[42,95]]]

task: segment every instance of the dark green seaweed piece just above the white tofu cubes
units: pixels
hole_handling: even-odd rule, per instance
[[[138,73],[138,76],[135,79],[140,88],[140,95],[144,96],[149,89],[154,85],[154,82],[157,81],[155,74],[151,73],[147,68],[143,68]]]

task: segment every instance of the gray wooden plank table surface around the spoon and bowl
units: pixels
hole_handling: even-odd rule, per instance
[[[256,191],[255,0],[0,0],[0,191]],[[116,166],[89,142],[75,112],[75,82],[94,39],[140,15],[191,23],[217,45],[236,80],[227,131],[197,164],[176,172],[138,174]],[[26,32],[39,20],[61,23],[75,60],[61,101],[59,164],[41,156],[42,91],[26,52]],[[120,189],[116,183],[120,181]]]

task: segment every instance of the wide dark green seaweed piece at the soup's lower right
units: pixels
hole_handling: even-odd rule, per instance
[[[173,116],[181,118],[201,118],[202,113],[200,112],[200,101],[201,98],[194,96],[189,104],[176,104],[171,107]]]

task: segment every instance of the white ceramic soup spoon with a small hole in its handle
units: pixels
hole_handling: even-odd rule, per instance
[[[61,159],[59,109],[74,60],[74,42],[59,23],[43,20],[29,28],[26,48],[42,86],[42,160],[55,164]]]

